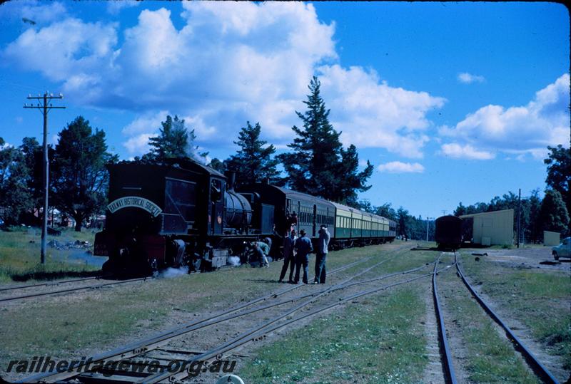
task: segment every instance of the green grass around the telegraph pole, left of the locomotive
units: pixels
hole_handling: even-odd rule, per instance
[[[74,232],[66,229],[61,236],[48,236],[47,242],[94,242],[94,232]],[[84,276],[97,271],[96,266],[86,265],[79,260],[69,259],[80,250],[58,250],[46,248],[46,263],[40,263],[41,229],[13,227],[9,232],[0,231],[0,283],[12,281],[58,279],[65,276]]]

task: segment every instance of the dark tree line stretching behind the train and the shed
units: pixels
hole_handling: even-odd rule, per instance
[[[306,110],[296,111],[301,125],[294,125],[289,151],[276,155],[276,147],[261,140],[260,123],[246,125],[238,132],[238,151],[207,165],[219,172],[236,172],[237,185],[268,180],[272,184],[312,194],[366,212],[379,214],[397,222],[397,234],[408,239],[426,239],[427,220],[414,217],[403,207],[394,209],[385,203],[378,207],[358,200],[358,193],[370,189],[367,181],[373,165],[367,161],[359,170],[357,148],[343,147],[329,122],[330,110],[320,95],[320,82],[315,76],[308,85],[303,103]],[[175,115],[166,116],[156,137],[149,139],[150,150],[136,162],[157,163],[167,159],[188,157],[206,162],[208,152],[195,144],[196,134],[185,121]],[[42,209],[42,149],[34,137],[24,137],[19,147],[4,145],[0,137],[0,218],[7,224],[39,224]],[[547,191],[540,199],[539,190],[522,199],[522,228],[526,239],[540,239],[543,229],[565,233],[569,228],[570,152],[559,145],[548,147]],[[91,128],[89,120],[79,116],[58,134],[55,146],[49,146],[50,203],[64,217],[76,222],[75,229],[90,217],[105,211],[108,172],[105,165],[118,162],[108,152],[103,130]],[[280,170],[279,167],[283,170]],[[285,177],[282,175],[285,173]],[[464,207],[460,202],[455,214],[517,209],[517,196],[512,192],[495,197],[490,204],[476,203]],[[434,225],[428,223],[428,239],[434,238]]]

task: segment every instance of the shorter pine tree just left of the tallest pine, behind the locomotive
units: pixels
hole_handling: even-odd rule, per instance
[[[266,179],[279,184],[280,172],[276,168],[278,160],[271,157],[276,148],[273,145],[264,147],[267,142],[260,140],[260,133],[260,123],[252,126],[249,121],[246,122],[246,127],[241,128],[238,134],[238,141],[234,142],[241,149],[224,162],[227,170],[236,172],[236,185],[253,184]]]

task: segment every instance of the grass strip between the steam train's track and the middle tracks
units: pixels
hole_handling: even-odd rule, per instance
[[[394,253],[387,250],[390,247],[394,248],[385,245],[332,252],[328,270],[365,256],[384,259]],[[312,255],[310,275],[313,262]],[[339,276],[348,276],[373,262],[353,266]],[[281,266],[281,262],[271,263],[268,269],[241,266],[14,303],[0,309],[0,369],[4,369],[2,361],[14,358],[46,354],[77,357],[84,356],[82,351],[86,350],[104,351],[170,328],[165,323],[167,318],[192,321],[196,319],[193,313],[222,311],[278,291],[286,287],[277,283]]]

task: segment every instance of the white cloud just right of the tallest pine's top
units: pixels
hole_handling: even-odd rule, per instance
[[[330,119],[343,131],[345,144],[423,157],[422,148],[428,142],[423,132],[430,127],[426,114],[441,108],[444,98],[390,87],[379,81],[375,71],[360,67],[322,66],[319,71]]]

